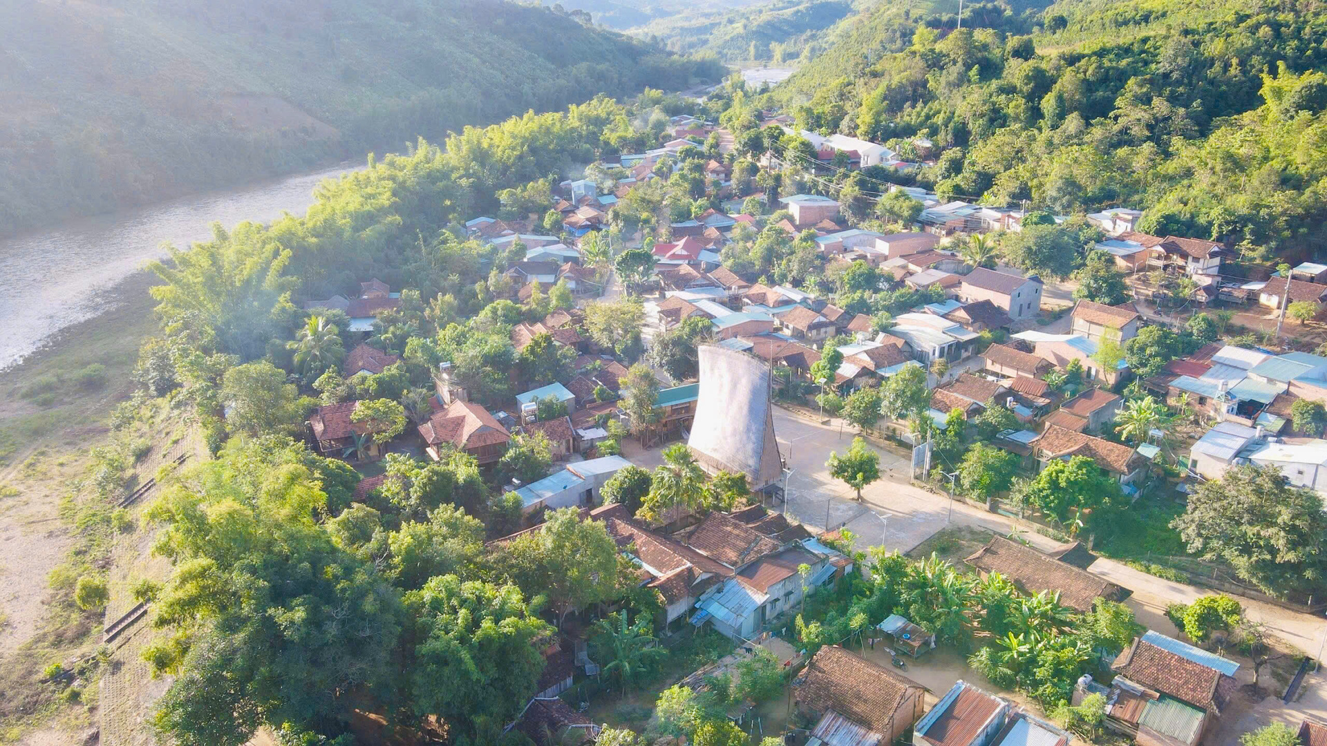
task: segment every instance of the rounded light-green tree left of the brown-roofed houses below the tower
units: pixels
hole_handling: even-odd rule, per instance
[[[614,599],[617,543],[602,522],[581,520],[573,507],[555,510],[537,531],[507,546],[508,573],[527,593],[548,596],[559,619]]]

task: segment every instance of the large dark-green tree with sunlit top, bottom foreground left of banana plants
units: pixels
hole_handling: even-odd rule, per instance
[[[512,721],[544,668],[535,640],[551,629],[520,588],[441,575],[405,603],[417,620],[406,668],[415,714],[471,734],[484,719]]]

